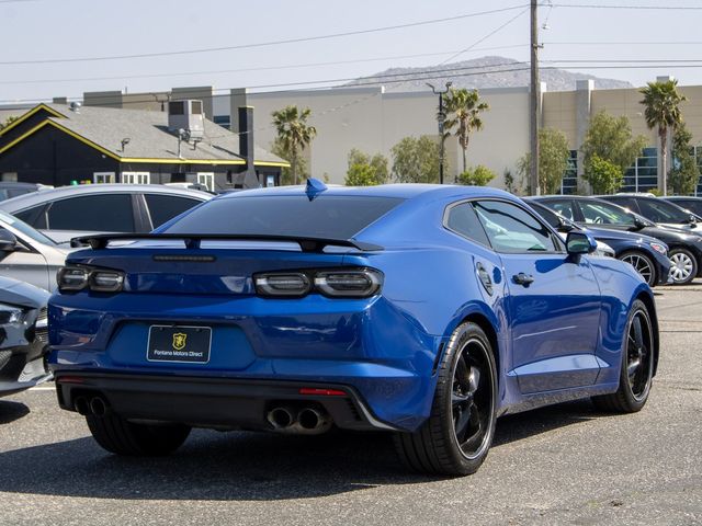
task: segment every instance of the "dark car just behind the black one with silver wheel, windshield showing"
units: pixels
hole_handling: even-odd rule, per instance
[[[602,195],[600,198],[629,208],[661,227],[680,228],[702,236],[702,228],[698,225],[699,217],[655,195],[616,194]]]

